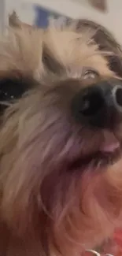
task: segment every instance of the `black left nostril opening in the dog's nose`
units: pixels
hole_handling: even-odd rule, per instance
[[[79,112],[83,116],[96,115],[104,105],[104,98],[100,90],[90,90],[85,92],[80,100]]]

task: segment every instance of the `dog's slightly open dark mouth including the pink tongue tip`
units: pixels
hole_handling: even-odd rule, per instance
[[[116,138],[113,132],[104,131],[102,142],[97,150],[91,150],[71,164],[72,169],[86,169],[89,165],[92,167],[105,167],[113,165],[118,161],[122,154],[122,143]]]

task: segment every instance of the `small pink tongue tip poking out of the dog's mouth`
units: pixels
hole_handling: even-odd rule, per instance
[[[120,147],[119,141],[116,139],[113,132],[104,131],[104,141],[100,148],[101,152],[112,153]]]

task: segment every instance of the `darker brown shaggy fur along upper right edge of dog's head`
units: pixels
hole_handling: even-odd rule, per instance
[[[81,19],[74,23],[76,24],[76,32],[87,30],[93,33],[92,38],[98,44],[99,50],[108,50],[113,53],[111,56],[107,56],[109,68],[116,72],[118,76],[122,76],[122,48],[113,34],[92,20]]]

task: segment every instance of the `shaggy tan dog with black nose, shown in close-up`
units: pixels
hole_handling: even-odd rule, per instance
[[[79,256],[122,226],[122,81],[72,24],[0,40],[1,256]]]

